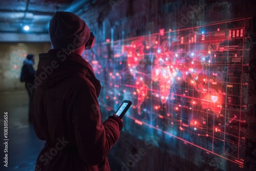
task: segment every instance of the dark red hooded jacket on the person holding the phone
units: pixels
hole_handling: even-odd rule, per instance
[[[34,130],[46,144],[35,170],[110,170],[108,155],[122,129],[120,118],[103,123],[100,82],[80,55],[56,49],[39,54],[32,92]]]

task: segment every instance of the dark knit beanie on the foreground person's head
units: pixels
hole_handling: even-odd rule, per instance
[[[90,33],[86,23],[71,12],[58,11],[50,21],[49,35],[55,49],[79,49],[89,40]]]

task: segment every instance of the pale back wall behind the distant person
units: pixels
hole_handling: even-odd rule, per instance
[[[0,42],[0,91],[25,89],[25,83],[19,81],[23,60],[28,53],[34,54],[36,70],[38,54],[49,49],[50,42]]]

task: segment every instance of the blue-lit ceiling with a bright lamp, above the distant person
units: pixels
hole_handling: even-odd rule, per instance
[[[7,0],[0,2],[0,33],[48,33],[56,11],[83,12],[96,0]],[[25,31],[24,26],[29,26]]]

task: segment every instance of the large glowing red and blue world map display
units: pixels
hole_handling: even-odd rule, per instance
[[[239,19],[98,45],[84,57],[101,80],[100,105],[111,112],[132,100],[125,120],[243,168],[249,25]]]

